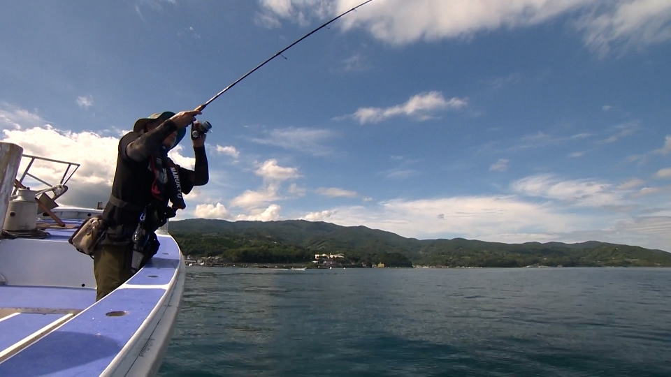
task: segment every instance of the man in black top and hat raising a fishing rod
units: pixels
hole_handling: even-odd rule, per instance
[[[205,133],[199,133],[200,110],[163,112],[138,119],[117,151],[110,199],[103,211],[105,235],[94,253],[96,301],[133,276],[157,252],[155,231],[185,209],[182,194],[208,183]],[[194,170],[175,165],[168,151],[178,145],[192,124]],[[168,205],[168,202],[171,205]]]

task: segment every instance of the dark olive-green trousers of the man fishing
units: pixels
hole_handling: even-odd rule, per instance
[[[133,246],[103,245],[93,254],[93,272],[98,285],[96,302],[131,279]]]

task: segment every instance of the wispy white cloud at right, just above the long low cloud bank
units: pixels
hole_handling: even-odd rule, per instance
[[[583,180],[561,181],[552,175],[533,175],[513,182],[513,191],[530,196],[563,200],[586,207],[621,205],[623,198],[610,184]]]

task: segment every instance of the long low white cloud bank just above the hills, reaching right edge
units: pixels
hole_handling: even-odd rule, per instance
[[[387,200],[310,212],[300,219],[363,225],[419,239],[465,237],[514,243],[596,239],[671,251],[671,216],[666,214],[651,218],[593,209],[575,212],[570,203],[535,203],[515,195]]]

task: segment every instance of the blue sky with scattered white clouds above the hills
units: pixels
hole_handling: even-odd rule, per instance
[[[0,140],[80,163],[59,205],[94,207],[136,119],[359,2],[3,1]],[[177,219],[671,251],[670,64],[668,0],[373,0],[208,105],[210,182]]]

